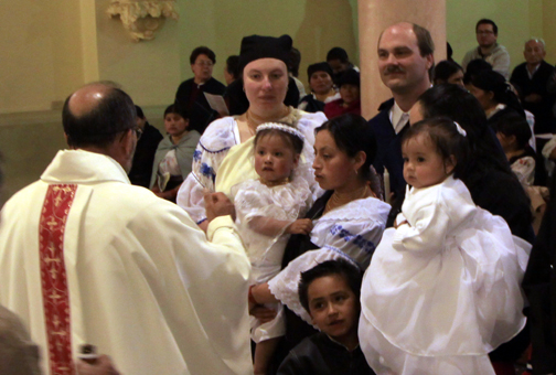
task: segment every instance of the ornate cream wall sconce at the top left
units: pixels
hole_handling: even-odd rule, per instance
[[[179,18],[175,0],[111,0],[107,13],[119,15],[136,42],[153,40],[154,32],[162,28],[167,18]]]

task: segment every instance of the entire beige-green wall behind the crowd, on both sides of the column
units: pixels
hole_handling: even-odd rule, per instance
[[[473,47],[474,23],[492,18],[515,65],[531,35],[547,43],[556,63],[556,1],[446,0],[447,35],[461,60]],[[132,42],[119,20],[109,19],[109,0],[0,1],[0,150],[4,154],[4,197],[36,180],[64,147],[61,101],[94,79],[119,82],[161,126],[162,110],[177,86],[191,77],[189,55],[201,44],[217,55],[223,79],[226,57],[239,52],[242,36],[289,33],[301,50],[300,78],[329,49],[345,47],[354,63],[357,0],[179,0],[180,20],[167,20],[154,41]],[[417,1],[415,3],[418,3]],[[0,204],[3,201],[0,201]]]

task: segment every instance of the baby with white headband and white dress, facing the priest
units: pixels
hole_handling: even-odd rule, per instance
[[[280,271],[289,235],[309,234],[312,224],[309,218],[298,218],[311,203],[307,179],[299,176],[300,170],[295,172],[303,150],[303,135],[289,125],[263,124],[257,127],[254,143],[259,179],[239,183],[232,194],[253,267],[252,280],[258,285]],[[285,334],[282,308],[279,303],[271,308],[278,313],[269,322],[260,324],[250,317],[252,339],[257,343],[256,375],[266,374],[279,338]]]

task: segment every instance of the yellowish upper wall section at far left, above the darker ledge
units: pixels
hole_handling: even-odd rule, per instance
[[[79,3],[0,2],[0,114],[46,110],[83,82]]]

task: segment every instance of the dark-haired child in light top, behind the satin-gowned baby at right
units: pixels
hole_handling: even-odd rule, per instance
[[[524,188],[533,185],[536,153],[528,144],[533,133],[525,118],[505,114],[496,119],[493,128],[517,180]]]

